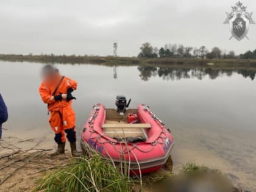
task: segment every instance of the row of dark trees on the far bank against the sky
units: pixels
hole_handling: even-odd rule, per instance
[[[225,51],[218,47],[212,48],[210,51],[205,46],[193,48],[191,46],[183,46],[183,44],[165,44],[158,49],[153,47],[151,43],[143,43],[140,47],[140,58],[202,58],[202,59],[256,59],[256,49],[247,51],[244,54],[236,55],[235,51]]]

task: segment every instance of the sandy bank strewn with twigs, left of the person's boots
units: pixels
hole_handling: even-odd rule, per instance
[[[4,130],[0,140],[0,191],[31,191],[46,173],[71,158],[68,145],[65,155],[49,157],[55,149],[53,134],[51,130],[38,132],[38,129],[26,133]]]

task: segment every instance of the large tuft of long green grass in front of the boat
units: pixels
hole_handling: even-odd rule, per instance
[[[121,174],[110,160],[97,152],[74,158],[69,165],[56,169],[39,180],[33,191],[130,191],[132,180]]]

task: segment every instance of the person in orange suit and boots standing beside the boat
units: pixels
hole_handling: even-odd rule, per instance
[[[76,99],[71,94],[77,89],[77,82],[61,76],[59,70],[52,65],[46,65],[42,70],[43,82],[39,93],[44,103],[48,104],[50,112],[49,124],[55,133],[54,140],[57,150],[51,156],[64,154],[66,138],[70,143],[71,153],[78,156],[76,149],[76,115],[72,101]]]

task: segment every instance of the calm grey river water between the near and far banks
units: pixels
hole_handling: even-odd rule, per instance
[[[0,62],[0,92],[9,107],[7,131],[19,137],[53,137],[38,94],[38,63]],[[55,65],[78,82],[74,93],[80,132],[93,104],[115,107],[116,94],[144,103],[171,127],[175,169],[186,162],[221,169],[256,191],[255,73],[146,66]],[[49,140],[53,143],[53,140]]]

